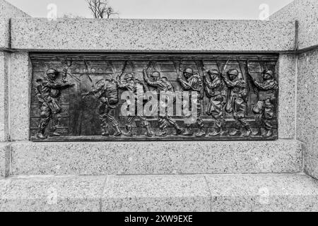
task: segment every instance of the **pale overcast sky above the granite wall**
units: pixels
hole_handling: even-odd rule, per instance
[[[6,0],[33,17],[47,17],[56,4],[59,16],[91,18],[86,0]],[[120,18],[259,19],[261,4],[272,14],[293,0],[109,0]]]

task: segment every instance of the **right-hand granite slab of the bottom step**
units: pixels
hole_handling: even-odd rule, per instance
[[[209,175],[206,180],[212,211],[318,210],[318,182],[305,174]]]

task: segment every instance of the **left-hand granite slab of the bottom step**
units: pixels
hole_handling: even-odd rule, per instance
[[[6,212],[97,212],[106,177],[18,177],[1,198]],[[0,181],[1,182],[1,181]]]

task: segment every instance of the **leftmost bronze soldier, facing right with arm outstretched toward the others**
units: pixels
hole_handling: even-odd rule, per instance
[[[64,73],[67,71],[64,70]],[[39,130],[37,133],[37,138],[45,139],[47,126],[49,121],[52,121],[52,124],[49,128],[49,136],[60,136],[59,133],[56,133],[57,124],[59,119],[57,114],[61,113],[61,107],[59,105],[59,97],[61,96],[61,90],[71,87],[73,84],[67,83],[66,81],[58,82],[57,76],[59,72],[55,69],[47,70],[47,76],[42,79],[37,80],[37,88],[35,93],[37,99],[40,103],[40,124]]]

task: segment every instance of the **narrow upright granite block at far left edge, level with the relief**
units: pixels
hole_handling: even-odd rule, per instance
[[[9,54],[0,52],[0,142],[8,141],[8,61]]]

